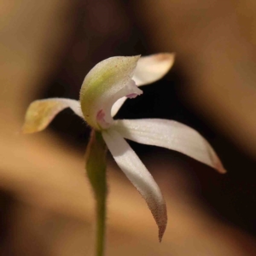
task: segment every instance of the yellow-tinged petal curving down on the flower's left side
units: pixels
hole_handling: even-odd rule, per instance
[[[64,108],[71,108],[74,113],[84,119],[80,102],[71,99],[51,98],[32,102],[26,111],[25,123],[22,127],[24,133],[33,133],[44,130],[55,115]]]

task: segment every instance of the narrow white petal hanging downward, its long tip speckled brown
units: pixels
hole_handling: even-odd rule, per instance
[[[114,160],[147,202],[158,225],[161,241],[166,230],[167,214],[166,202],[157,183],[155,183],[152,175],[137,157],[137,154],[135,154],[129,144],[125,142],[125,139],[117,131],[109,129],[103,131],[102,136]]]

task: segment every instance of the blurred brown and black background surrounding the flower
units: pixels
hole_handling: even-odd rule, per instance
[[[84,177],[90,129],[70,110],[20,134],[30,102],[79,97],[113,55],[176,52],[172,71],[127,101],[120,119],[176,119],[207,137],[226,175],[131,143],[166,197],[154,220],[113,163],[106,255],[256,255],[256,3],[253,0],[0,2],[0,253],[92,255],[94,201]]]

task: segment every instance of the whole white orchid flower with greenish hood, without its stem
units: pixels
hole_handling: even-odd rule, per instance
[[[125,99],[143,94],[138,86],[162,78],[173,62],[173,54],[108,58],[86,75],[79,101],[51,98],[32,102],[23,126],[25,133],[42,131],[57,113],[71,108],[96,131],[97,136],[102,137],[113,159],[143,196],[158,225],[160,240],[167,224],[166,202],[154,178],[125,139],[176,150],[218,172],[225,172],[210,144],[187,125],[166,119],[113,119]],[[97,150],[101,151],[99,147]],[[96,161],[101,158],[99,155]]]

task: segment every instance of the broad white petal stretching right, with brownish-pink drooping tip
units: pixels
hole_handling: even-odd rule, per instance
[[[226,172],[207,140],[187,125],[165,119],[136,119],[117,120],[113,127],[121,136],[137,143],[176,150],[218,172]]]

